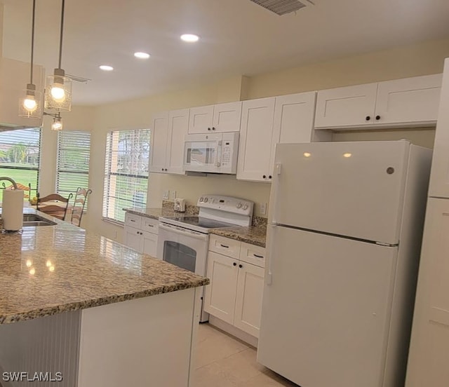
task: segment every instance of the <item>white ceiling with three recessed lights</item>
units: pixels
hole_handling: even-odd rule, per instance
[[[3,56],[29,62],[32,0],[3,0]],[[104,104],[239,74],[449,36],[448,0],[314,0],[278,16],[249,0],[66,0],[62,68],[74,104]],[[1,3],[1,0],[0,0]],[[58,67],[60,0],[36,1],[35,62]],[[198,43],[179,36],[199,34]],[[137,60],[135,51],[150,53]],[[110,64],[114,72],[102,72]]]

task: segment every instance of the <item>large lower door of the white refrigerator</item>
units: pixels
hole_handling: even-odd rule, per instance
[[[383,386],[397,247],[274,226],[268,248],[257,361],[304,387]]]

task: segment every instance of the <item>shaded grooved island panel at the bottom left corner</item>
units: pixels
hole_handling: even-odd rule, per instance
[[[76,386],[80,322],[81,311],[71,311],[0,325],[0,383]],[[16,376],[10,374],[14,372]]]

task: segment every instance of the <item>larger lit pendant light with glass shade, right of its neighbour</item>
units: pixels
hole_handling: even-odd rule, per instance
[[[61,28],[59,41],[59,63],[53,75],[47,76],[47,87],[45,93],[45,107],[57,111],[70,111],[72,109],[72,79],[65,76],[61,68],[62,59],[62,34],[64,31],[64,8],[65,0],[61,6]]]

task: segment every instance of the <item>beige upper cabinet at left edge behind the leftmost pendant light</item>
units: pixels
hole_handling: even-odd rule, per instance
[[[25,97],[25,89],[29,83],[30,64],[18,60],[0,57],[0,124],[19,127],[36,127],[42,125],[39,118],[19,117],[19,100]],[[42,94],[45,71],[42,66],[34,65],[33,83]]]

